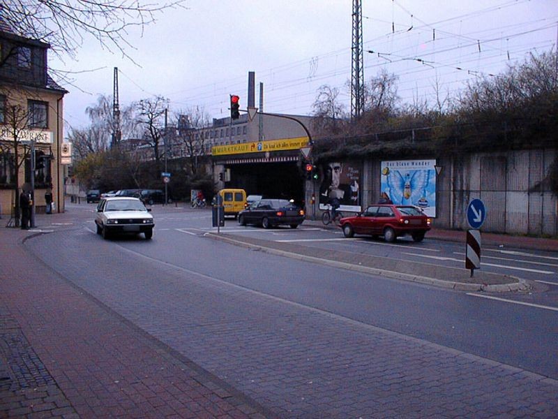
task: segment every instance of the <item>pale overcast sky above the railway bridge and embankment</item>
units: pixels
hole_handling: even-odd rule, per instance
[[[557,0],[363,0],[365,80],[385,68],[398,76],[402,101],[434,99],[481,75],[501,73],[529,52],[548,52],[558,38]],[[89,123],[85,108],[112,96],[119,68],[121,107],[154,95],[172,111],[200,106],[229,115],[229,94],[246,108],[248,71],[264,84],[264,110],[309,115],[322,84],[340,90],[350,110],[351,0],[187,0],[157,15],[142,36],[130,31],[126,52],[86,38],[70,71],[64,100],[69,126]],[[373,51],[370,53],[368,51]],[[418,61],[421,59],[424,61]],[[459,68],[459,69],[458,69]]]

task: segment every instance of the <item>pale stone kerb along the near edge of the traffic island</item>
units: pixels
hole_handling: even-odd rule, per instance
[[[302,255],[299,253],[294,253],[290,251],[274,249],[273,247],[262,246],[261,244],[254,244],[247,241],[243,241],[239,238],[225,237],[216,233],[205,233],[205,237],[210,237],[213,240],[221,240],[223,242],[228,242],[230,244],[235,244],[237,246],[248,247],[250,249],[258,249],[260,251],[265,251],[266,253],[276,254],[278,256],[285,256],[287,258],[293,258],[298,260],[304,260],[311,263],[319,263],[322,265],[327,265],[331,267],[338,267],[341,269],[353,270],[356,272],[362,272],[364,274],[371,275],[381,275],[382,277],[388,277],[391,279],[400,279],[402,281],[411,281],[419,284],[427,284],[432,286],[438,286],[441,288],[449,288],[455,291],[485,291],[485,292],[508,292],[508,291],[524,291],[529,288],[527,282],[520,278],[515,278],[518,280],[517,283],[511,284],[465,284],[458,281],[445,281],[442,279],[436,279],[431,277],[424,277],[420,275],[405,274],[402,272],[395,272],[391,270],[377,269],[374,267],[368,267],[363,265],[355,265],[352,263],[340,262],[338,260],[328,260],[324,258],[317,258],[315,256]]]

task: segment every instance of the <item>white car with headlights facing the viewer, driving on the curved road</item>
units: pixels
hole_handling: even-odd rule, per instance
[[[153,215],[139,198],[113,196],[103,198],[97,205],[95,223],[97,234],[104,239],[115,233],[144,233],[147,240],[153,237]]]

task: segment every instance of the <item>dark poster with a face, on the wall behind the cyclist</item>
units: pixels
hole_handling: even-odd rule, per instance
[[[333,161],[321,168],[319,209],[326,210],[332,198],[340,203],[339,211],[361,211],[362,163]]]

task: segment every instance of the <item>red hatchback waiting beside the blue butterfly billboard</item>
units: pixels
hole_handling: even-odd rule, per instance
[[[370,205],[359,215],[342,218],[340,223],[345,237],[355,233],[383,235],[386,242],[395,242],[397,237],[407,234],[421,242],[430,230],[430,218],[412,205]]]

